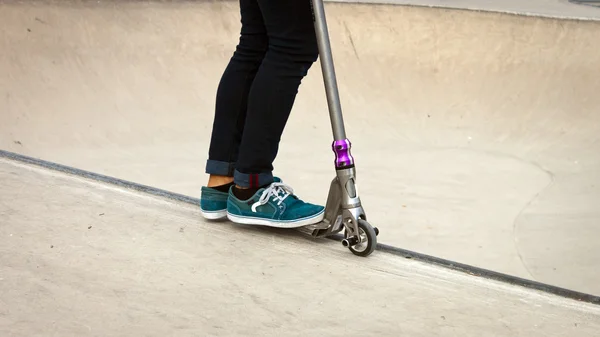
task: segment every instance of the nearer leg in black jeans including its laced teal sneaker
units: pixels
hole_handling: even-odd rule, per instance
[[[310,0],[258,1],[269,49],[248,96],[228,216],[244,224],[299,227],[321,221],[324,207],[300,200],[272,171],[298,88],[318,58]]]

